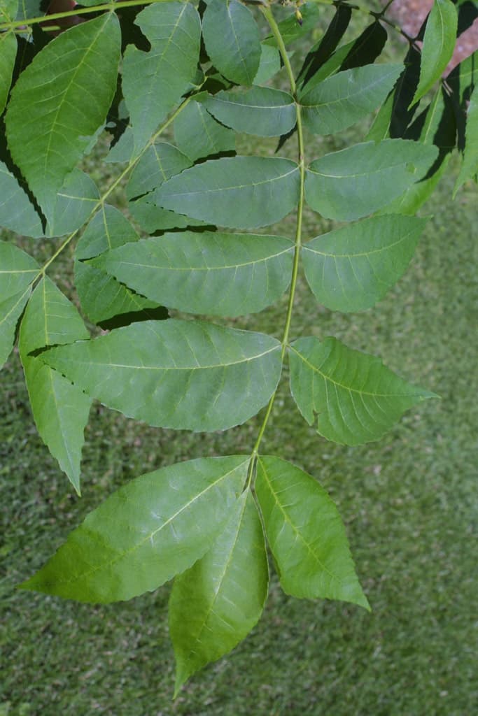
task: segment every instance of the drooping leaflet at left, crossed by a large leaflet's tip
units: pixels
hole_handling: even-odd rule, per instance
[[[75,306],[50,279],[42,279],[21,321],[20,357],[39,435],[78,494],[83,430],[91,399],[32,353],[85,338],[88,332]]]

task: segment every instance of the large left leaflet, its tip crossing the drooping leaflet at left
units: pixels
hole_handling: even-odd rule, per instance
[[[280,344],[202,321],[143,321],[42,360],[128,417],[179,430],[226,430],[274,392]]]

